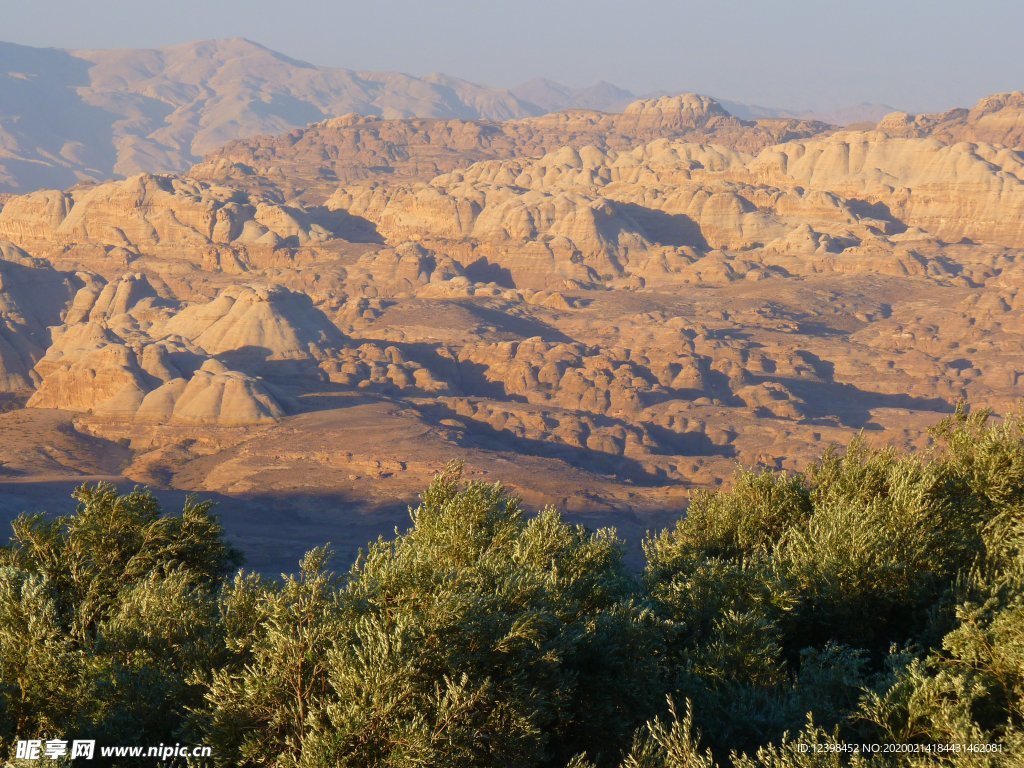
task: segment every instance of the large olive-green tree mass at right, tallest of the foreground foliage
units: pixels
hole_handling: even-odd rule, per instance
[[[786,733],[1019,742],[1021,422],[958,410],[934,436],[924,456],[855,440],[804,475],[742,470],[646,543],[671,687],[716,756],[806,764]]]

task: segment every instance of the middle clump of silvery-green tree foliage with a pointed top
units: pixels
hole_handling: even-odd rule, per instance
[[[615,754],[652,710],[654,635],[608,530],[526,519],[453,466],[344,579],[324,553],[251,591],[259,629],[208,694],[254,765],[562,765]],[[247,624],[247,623],[243,623]],[[246,636],[249,636],[248,628]]]

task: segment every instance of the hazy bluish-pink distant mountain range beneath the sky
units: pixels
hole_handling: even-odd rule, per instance
[[[507,120],[572,108],[621,112],[637,97],[605,82],[572,88],[539,79],[500,89],[446,75],[315,67],[245,39],[153,50],[0,43],[0,191],[183,170],[231,139],[348,113]],[[725,104],[741,118],[820,118]],[[858,109],[836,122],[892,111]]]

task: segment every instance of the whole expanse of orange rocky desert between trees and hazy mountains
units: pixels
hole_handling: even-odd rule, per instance
[[[3,507],[194,490],[272,568],[456,458],[636,534],[737,462],[923,446],[1021,394],[1022,126],[1020,93],[864,131],[346,117],[5,197]]]

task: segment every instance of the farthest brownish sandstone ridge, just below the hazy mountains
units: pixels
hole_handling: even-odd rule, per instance
[[[562,146],[625,150],[656,138],[714,141],[746,152],[826,131],[814,121],[741,121],[708,96],[642,99],[622,114],[585,110],[502,123],[382,120],[347,115],[285,136],[227,143],[189,173],[202,179],[319,203],[364,179],[426,181],[480,160],[534,157]]]

